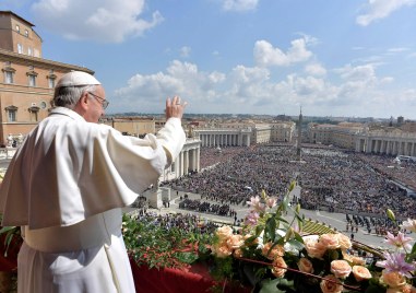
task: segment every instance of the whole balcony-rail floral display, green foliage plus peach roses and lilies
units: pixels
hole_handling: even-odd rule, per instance
[[[207,263],[219,281],[213,291],[237,282],[260,293],[416,293],[416,244],[411,237],[388,233],[385,242],[392,249],[378,251],[341,233],[306,234],[300,207],[289,204],[295,186],[293,181],[281,201],[264,191],[252,197],[237,230],[223,225],[201,233],[191,224],[190,230],[166,227],[155,223],[155,215],[138,221],[124,214],[126,246],[139,266],[148,268],[187,270],[198,261]],[[294,214],[292,221],[288,212]],[[387,215],[397,225],[392,211]],[[408,219],[401,227],[416,233],[416,220]],[[20,236],[15,227],[1,232],[7,246]],[[367,253],[367,258],[357,256],[357,250]]]

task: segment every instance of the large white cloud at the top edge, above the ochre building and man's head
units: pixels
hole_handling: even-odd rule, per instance
[[[163,21],[158,11],[142,19],[144,0],[39,0],[32,5],[36,23],[69,39],[121,43]]]

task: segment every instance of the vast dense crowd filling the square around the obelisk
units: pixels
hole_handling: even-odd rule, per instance
[[[234,148],[203,148],[201,165],[216,159],[215,167],[170,184],[200,194],[202,199],[245,206],[261,190],[282,198],[296,178],[301,187],[299,201],[306,209],[355,211],[373,216],[384,216],[385,210],[391,209],[403,219],[416,216],[416,199],[394,183],[416,178],[416,163],[402,164],[400,172],[395,172],[391,167],[392,156],[313,148],[302,149],[300,162],[296,148],[287,144],[261,144],[234,151]]]

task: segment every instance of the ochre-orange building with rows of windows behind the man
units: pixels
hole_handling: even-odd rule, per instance
[[[33,24],[0,11],[0,145],[28,133],[50,110],[56,81],[71,70],[94,71],[41,58]]]

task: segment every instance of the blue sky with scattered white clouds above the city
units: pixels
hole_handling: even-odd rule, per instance
[[[416,120],[416,0],[0,0],[43,57],[95,71],[107,114]]]

